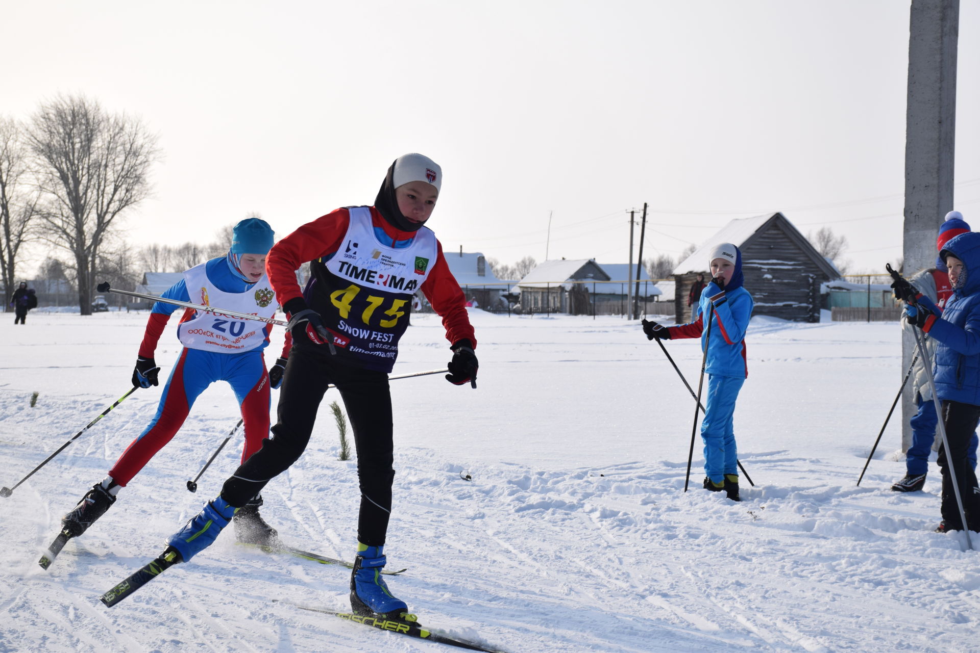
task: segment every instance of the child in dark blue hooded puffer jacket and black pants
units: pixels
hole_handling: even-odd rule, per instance
[[[949,450],[939,449],[943,473],[940,533],[959,531],[963,524],[956,508],[950,475],[956,472],[963,500],[965,526],[980,531],[980,490],[967,449],[980,420],[980,233],[965,233],[946,244],[940,257],[949,267],[953,297],[940,310],[914,289],[904,288],[903,299],[917,305],[906,307],[907,320],[939,343],[934,361],[936,396],[943,402],[943,423]],[[911,289],[911,290],[909,290]]]

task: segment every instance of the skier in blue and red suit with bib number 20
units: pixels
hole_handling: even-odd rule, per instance
[[[272,317],[278,307],[265,274],[265,260],[272,246],[269,224],[258,218],[242,220],[234,227],[227,256],[192,267],[162,297],[181,302],[221,306],[229,310]],[[146,333],[132,372],[132,385],[149,388],[159,385],[160,367],[154,360],[157,342],[177,306],[153,304]],[[116,502],[117,494],[183,425],[194,400],[215,381],[226,381],[234,390],[245,426],[242,461],[254,454],[269,436],[270,386],[277,388],[290,347],[267,373],[263,350],[269,345],[272,325],[241,320],[216,313],[187,308],[177,326],[180,351],[171,378],[164,386],[160,406],[150,424],[120,456],[109,475],[88,490],[78,505],[62,519],[61,545],[69,537],[80,536]],[[244,504],[243,504],[244,505]],[[248,505],[236,516],[240,541],[274,545],[275,530],[259,514],[262,497],[256,491]],[[58,541],[58,540],[56,540]],[[55,548],[51,552],[57,555]],[[47,564],[53,557],[49,556]],[[44,560],[42,558],[42,560]],[[42,566],[46,566],[42,562]]]

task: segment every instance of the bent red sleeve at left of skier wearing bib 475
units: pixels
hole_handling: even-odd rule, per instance
[[[340,249],[351,216],[346,209],[330,211],[289,234],[272,246],[266,258],[266,274],[279,305],[303,297],[296,270],[308,260]]]

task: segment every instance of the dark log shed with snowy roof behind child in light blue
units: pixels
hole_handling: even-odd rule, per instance
[[[674,314],[691,321],[688,295],[699,272],[711,280],[711,249],[732,243],[742,251],[745,288],[756,303],[754,315],[795,322],[820,321],[820,284],[840,273],[780,212],[732,220],[674,268]]]

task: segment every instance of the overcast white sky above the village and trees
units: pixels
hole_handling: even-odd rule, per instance
[[[281,237],[371,204],[388,165],[443,167],[447,252],[625,262],[782,210],[901,255],[902,0],[2,2],[0,113],[83,93],[159,133],[134,245]],[[956,208],[980,228],[980,0],[960,0]],[[937,224],[941,216],[937,216]],[[637,231],[637,241],[639,232]]]

